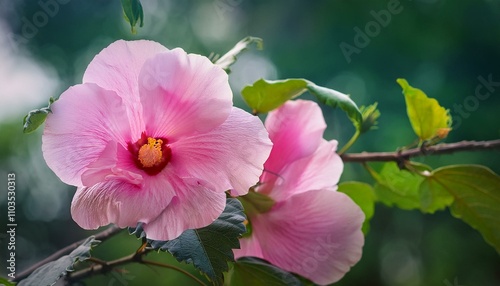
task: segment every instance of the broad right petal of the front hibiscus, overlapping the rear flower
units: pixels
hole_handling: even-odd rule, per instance
[[[178,173],[243,195],[258,182],[271,146],[259,118],[233,108],[219,127],[173,143],[171,164]]]

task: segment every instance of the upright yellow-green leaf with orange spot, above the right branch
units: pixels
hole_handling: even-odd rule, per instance
[[[397,82],[403,88],[408,118],[420,140],[446,137],[451,130],[449,111],[422,90],[411,87],[405,79],[399,78]]]

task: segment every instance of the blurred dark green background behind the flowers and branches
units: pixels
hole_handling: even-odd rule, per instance
[[[47,12],[42,6],[49,2],[55,5]],[[23,135],[22,118],[46,105],[50,96],[80,83],[93,56],[117,39],[151,39],[208,56],[224,54],[247,35],[260,37],[264,50],[242,55],[232,68],[235,103],[244,107],[239,91],[260,77],[307,78],[351,94],[359,105],[379,102],[380,128],[363,135],[350,152],[394,151],[415,139],[395,81],[398,77],[451,110],[457,125],[447,142],[500,137],[500,87],[492,87],[484,100],[475,94],[481,83],[478,77],[500,82],[498,0],[144,0],[143,6],[144,27],[133,35],[118,0],[0,1],[0,205],[5,222],[0,229],[4,234],[7,173],[15,172],[18,271],[92,233],[71,220],[75,189],[45,165],[42,130]],[[387,23],[373,24],[378,17],[374,15],[388,8],[393,13]],[[357,31],[365,28],[370,36],[356,47]],[[347,58],[341,43],[357,48],[356,53]],[[464,112],[455,109],[458,105]],[[338,139],[342,146],[354,131],[351,123],[341,111],[325,108],[324,112],[327,139]],[[498,159],[499,152],[492,151],[419,161],[432,167],[484,164],[499,173]],[[372,182],[361,166],[352,163],[345,165],[341,180]],[[118,258],[139,245],[134,237],[121,234],[95,254]],[[2,261],[5,251],[2,241]],[[176,263],[164,253],[148,257]],[[124,269],[85,282],[192,283],[174,271],[143,265]],[[5,268],[0,274],[5,276]],[[500,285],[500,259],[478,232],[448,211],[423,215],[377,205],[363,258],[338,285]]]

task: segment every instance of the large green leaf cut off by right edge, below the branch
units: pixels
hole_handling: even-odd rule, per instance
[[[454,165],[436,169],[430,187],[453,196],[451,213],[478,230],[500,253],[500,177],[479,165]]]

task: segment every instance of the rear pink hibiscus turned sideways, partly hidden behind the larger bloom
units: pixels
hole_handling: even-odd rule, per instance
[[[252,232],[235,256],[265,259],[318,284],[336,282],[364,244],[363,212],[336,191],[343,169],[337,141],[323,139],[326,124],[312,101],[287,102],[269,113],[266,127],[274,146],[255,191],[274,205],[248,214]]]

